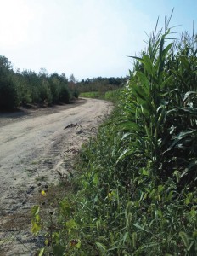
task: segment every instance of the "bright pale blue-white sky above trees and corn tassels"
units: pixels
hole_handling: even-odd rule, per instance
[[[197,0],[0,0],[0,55],[14,68],[74,73],[76,79],[128,74],[127,55],[174,8],[173,32],[197,26]]]

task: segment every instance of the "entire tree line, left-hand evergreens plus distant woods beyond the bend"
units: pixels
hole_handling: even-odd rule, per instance
[[[82,79],[78,82],[73,74],[48,74],[42,68],[39,73],[31,70],[14,71],[5,56],[0,55],[0,110],[14,109],[28,104],[47,107],[69,103],[80,92],[115,90],[124,83],[122,78]]]

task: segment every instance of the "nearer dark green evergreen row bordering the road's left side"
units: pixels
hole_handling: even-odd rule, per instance
[[[14,71],[11,62],[0,56],[0,109],[12,109],[27,104],[49,106],[60,102],[69,103],[77,97],[70,89],[65,73],[48,74],[31,70]]]

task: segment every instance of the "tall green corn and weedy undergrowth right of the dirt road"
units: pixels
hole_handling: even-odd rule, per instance
[[[196,35],[174,40],[168,25],[150,34],[114,113],[82,147],[39,255],[197,254]],[[35,233],[46,227],[39,210]]]

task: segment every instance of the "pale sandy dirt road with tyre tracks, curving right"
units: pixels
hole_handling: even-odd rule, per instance
[[[12,227],[5,228],[8,216],[29,210],[40,179],[57,183],[58,172],[71,172],[73,155],[112,108],[109,102],[84,102],[38,116],[34,113],[8,119],[0,114],[1,255],[32,255],[36,245],[29,238],[29,230],[13,233]],[[65,128],[70,124],[76,126]],[[14,241],[14,248],[7,239]]]

